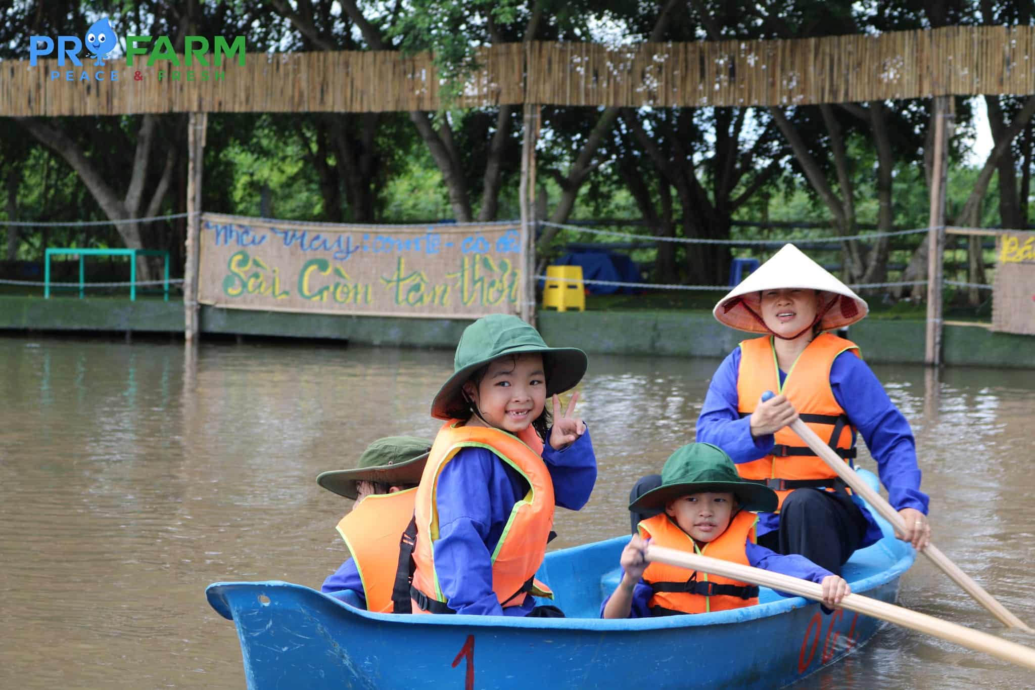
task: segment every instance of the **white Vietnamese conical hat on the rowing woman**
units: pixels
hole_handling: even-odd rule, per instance
[[[854,324],[869,311],[865,300],[825,268],[806,257],[793,244],[785,244],[779,251],[744,278],[739,286],[718,301],[712,313],[721,323],[738,331],[768,333],[762,321],[760,294],[765,290],[805,288],[826,293],[821,331],[829,331]]]

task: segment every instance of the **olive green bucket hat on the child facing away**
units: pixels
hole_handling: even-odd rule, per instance
[[[359,496],[356,482],[419,484],[432,442],[416,437],[378,439],[359,456],[354,470],[331,470],[317,476],[317,483],[328,491],[353,501]]]

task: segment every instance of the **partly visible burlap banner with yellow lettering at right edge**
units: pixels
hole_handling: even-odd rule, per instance
[[[1035,335],[1035,233],[999,236],[992,327]]]

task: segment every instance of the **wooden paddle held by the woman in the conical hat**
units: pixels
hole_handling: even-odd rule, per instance
[[[773,396],[772,392],[766,391],[762,394],[762,401],[765,402]],[[790,424],[791,430],[797,433],[805,445],[812,449],[812,452],[823,458],[823,461],[827,466],[837,473],[837,476],[845,480],[845,483],[852,487],[852,490],[858,493],[862,499],[868,503],[874,510],[879,512],[884,519],[891,522],[898,534],[909,535],[911,530],[907,529],[906,520],[903,516],[898,514],[894,508],[891,507],[884,497],[869,487],[869,485],[862,480],[855,471],[850,468],[838,455],[833,451],[830,446],[823,443],[820,437],[816,436],[812,429],[805,426],[805,423],[800,419],[797,419]],[[1000,622],[1008,628],[1021,628],[1027,632],[1035,632],[1029,628],[1021,619],[1006,610],[1006,607],[999,603],[993,598],[990,594],[985,592],[980,584],[975,582],[970,575],[965,573],[959,569],[956,564],[949,561],[944,553],[942,553],[934,544],[927,543],[927,545],[921,550],[921,552],[926,556],[931,563],[938,566],[949,578],[963,588],[964,592],[969,594],[974,598],[976,602],[984,606],[988,611],[995,616]]]

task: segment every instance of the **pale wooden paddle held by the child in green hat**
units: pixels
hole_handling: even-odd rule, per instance
[[[779,592],[788,592],[815,601],[823,600],[823,586],[821,584],[760,568],[743,566],[739,563],[731,563],[707,556],[696,556],[686,551],[655,546],[653,544],[647,545],[645,558],[647,561],[666,563],[670,566],[721,575],[722,577],[730,577],[742,582],[750,582],[751,584],[768,587]],[[839,606],[935,637],[941,637],[967,649],[984,652],[1004,661],[1035,670],[1035,650],[1024,644],[1011,642],[1002,637],[989,635],[986,632],[971,630],[955,623],[949,623],[948,621],[936,619],[931,616],[919,613],[877,599],[870,599],[859,594],[846,596]]]

